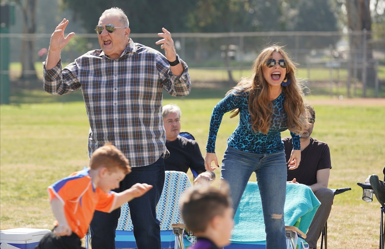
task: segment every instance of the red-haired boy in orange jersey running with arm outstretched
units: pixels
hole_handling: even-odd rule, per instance
[[[48,187],[52,211],[57,219],[36,249],[81,249],[80,239],[88,231],[94,211],[111,212],[142,196],[152,188],[134,184],[115,193],[119,183],[131,172],[128,159],[112,144],[94,151],[89,168],[75,172]]]

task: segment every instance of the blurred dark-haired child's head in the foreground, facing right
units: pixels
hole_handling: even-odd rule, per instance
[[[229,244],[234,226],[228,188],[198,185],[181,198],[181,213],[186,227],[198,237],[190,249],[219,249]]]

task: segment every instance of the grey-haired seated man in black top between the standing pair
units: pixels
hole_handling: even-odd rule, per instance
[[[194,183],[215,179],[213,171],[206,171],[204,159],[195,140],[178,136],[181,130],[181,109],[177,105],[165,105],[162,109],[163,125],[166,129],[166,148],[170,156],[164,159],[164,169],[183,171],[194,169],[199,175]]]

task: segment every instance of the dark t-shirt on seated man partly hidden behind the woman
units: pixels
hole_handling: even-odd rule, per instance
[[[282,138],[285,146],[286,162],[290,159],[293,143],[291,137]],[[301,151],[300,166],[296,169],[288,169],[288,181],[297,179],[298,183],[313,185],[317,183],[317,171],[331,169],[330,150],[327,143],[310,138],[310,144]]]

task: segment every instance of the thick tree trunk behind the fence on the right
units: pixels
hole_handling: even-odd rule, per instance
[[[372,19],[370,16],[370,0],[346,0],[346,10],[348,13],[348,28],[352,31],[363,31],[370,32],[372,30]],[[372,44],[368,41],[371,40],[372,35],[366,35],[366,41],[363,41],[363,35],[352,35],[350,41],[350,60],[357,60],[359,65],[363,65],[366,68],[366,82],[368,87],[374,87],[375,82],[375,70],[373,62]],[[366,50],[364,49],[366,44]],[[366,51],[366,55],[364,55]],[[363,58],[366,60],[362,64]],[[351,65],[353,65],[353,61]],[[362,79],[362,66],[358,68],[358,78]],[[353,75],[353,68],[350,68],[350,75]]]

